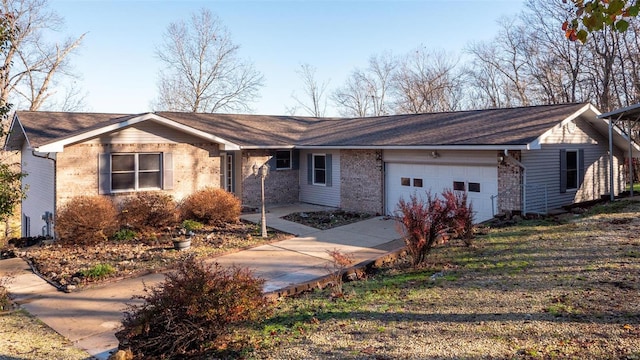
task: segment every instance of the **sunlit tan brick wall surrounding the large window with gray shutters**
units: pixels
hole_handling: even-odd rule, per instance
[[[220,187],[217,144],[79,144],[57,154],[56,202],[64,205],[79,195],[98,195],[98,155],[110,152],[173,154],[173,189],[163,190],[176,200],[207,186]],[[131,193],[112,195],[116,200]]]

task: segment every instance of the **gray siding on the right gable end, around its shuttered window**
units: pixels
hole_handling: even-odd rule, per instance
[[[575,126],[574,126],[575,125]],[[559,129],[544,139],[540,150],[522,152],[527,184],[547,189],[548,208],[600,199],[609,193],[609,143],[588,123],[578,118],[574,125]],[[571,128],[569,128],[571,126]],[[577,190],[560,192],[560,150],[584,150],[584,179]],[[620,189],[620,152],[614,156],[614,193]],[[527,197],[527,201],[532,201]]]

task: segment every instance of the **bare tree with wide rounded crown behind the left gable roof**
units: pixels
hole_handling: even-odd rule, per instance
[[[240,59],[240,47],[222,21],[202,9],[191,21],[171,23],[157,56],[165,68],[159,74],[160,110],[190,112],[249,111],[263,76]]]

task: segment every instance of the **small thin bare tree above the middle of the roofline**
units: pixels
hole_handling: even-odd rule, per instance
[[[291,97],[296,102],[296,106],[287,109],[289,113],[295,113],[298,107],[302,108],[307,114],[315,117],[323,117],[327,110],[326,90],[329,81],[319,83],[316,79],[317,69],[309,64],[300,65],[300,69],[296,71],[302,81],[303,98],[300,98],[295,92]]]

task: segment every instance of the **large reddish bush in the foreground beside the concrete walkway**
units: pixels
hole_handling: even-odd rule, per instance
[[[141,305],[125,312],[116,333],[121,349],[136,358],[183,358],[243,347],[239,327],[271,311],[264,280],[247,269],[208,265],[193,257],[181,262],[163,283],[145,288]]]

